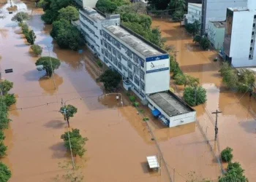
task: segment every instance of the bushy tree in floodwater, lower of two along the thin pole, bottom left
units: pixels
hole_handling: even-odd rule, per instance
[[[64,146],[68,150],[70,150],[69,138],[73,154],[75,156],[78,155],[83,157],[83,154],[86,152],[86,150],[83,149],[83,146],[86,144],[86,141],[88,141],[88,138],[83,138],[78,129],[72,129],[72,132],[69,133],[65,132],[63,135],[61,135],[61,139],[64,140]]]

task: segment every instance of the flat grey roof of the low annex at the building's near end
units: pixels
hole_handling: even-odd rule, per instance
[[[149,98],[153,100],[159,108],[162,108],[168,116],[176,116],[195,111],[172,92],[154,93],[150,95]]]

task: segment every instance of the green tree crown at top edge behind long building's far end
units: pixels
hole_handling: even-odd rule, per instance
[[[103,13],[113,13],[121,5],[129,4],[128,0],[99,0],[96,7]]]

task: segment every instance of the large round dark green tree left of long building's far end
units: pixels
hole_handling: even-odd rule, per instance
[[[68,20],[55,21],[50,35],[53,36],[53,39],[56,39],[59,47],[64,49],[78,50],[78,47],[83,45],[80,32]]]

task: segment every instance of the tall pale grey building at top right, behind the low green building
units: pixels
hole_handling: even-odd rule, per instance
[[[246,7],[247,0],[203,0],[202,33],[208,32],[209,21],[225,21],[229,7]]]

